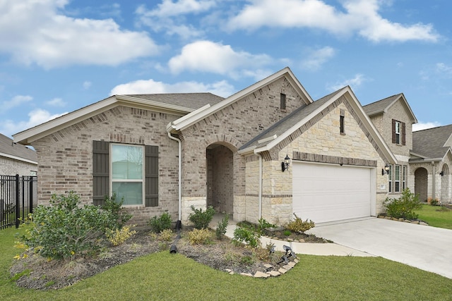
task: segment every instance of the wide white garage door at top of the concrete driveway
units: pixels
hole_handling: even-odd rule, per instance
[[[371,215],[372,168],[294,162],[295,214],[314,223]]]

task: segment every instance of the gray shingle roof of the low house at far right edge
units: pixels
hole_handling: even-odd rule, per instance
[[[450,147],[444,147],[452,135],[452,124],[412,133],[412,152],[426,156],[425,159],[443,158]]]

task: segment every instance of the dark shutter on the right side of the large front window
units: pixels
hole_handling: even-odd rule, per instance
[[[145,145],[145,207],[158,206],[158,147]]]

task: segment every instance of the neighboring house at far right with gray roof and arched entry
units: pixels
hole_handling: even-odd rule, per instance
[[[452,202],[452,125],[412,133],[410,166],[421,201]]]

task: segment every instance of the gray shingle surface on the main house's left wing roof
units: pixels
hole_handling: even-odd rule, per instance
[[[127,96],[161,102],[162,104],[183,106],[184,108],[195,110],[206,104],[216,104],[224,99],[212,93],[127,94]]]

